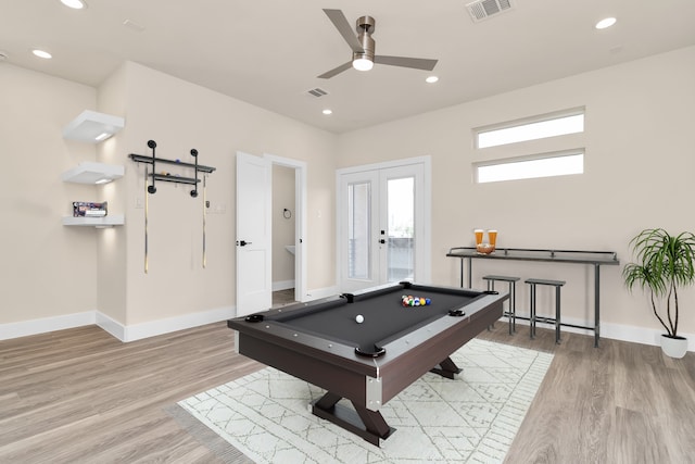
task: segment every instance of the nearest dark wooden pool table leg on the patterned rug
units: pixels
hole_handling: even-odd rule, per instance
[[[395,431],[395,428],[389,427],[379,411],[369,411],[354,402],[352,405],[355,411],[352,411],[342,404],[337,404],[341,399],[342,397],[328,391],[314,403],[312,413],[358,435],[377,447],[380,438],[387,439]]]

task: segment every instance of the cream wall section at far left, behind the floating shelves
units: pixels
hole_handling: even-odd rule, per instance
[[[99,198],[94,187],[60,178],[94,161],[93,146],[64,140],[62,130],[96,102],[91,87],[0,65],[2,324],[96,310],[99,233],[63,227],[61,217],[73,201]]]

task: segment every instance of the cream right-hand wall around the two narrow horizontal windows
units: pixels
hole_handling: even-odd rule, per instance
[[[497,151],[473,149],[475,127],[576,106],[585,106],[583,135]],[[458,261],[445,258],[446,251],[473,243],[472,229],[478,227],[498,229],[500,247],[615,250],[624,264],[630,260],[628,242],[643,228],[695,230],[694,108],[691,47],[341,135],[338,165],[432,156],[437,284],[458,285]],[[471,163],[488,155],[576,147],[586,149],[583,175],[472,183]],[[593,278],[583,266],[485,264],[476,262],[473,286],[483,286],[480,276],[486,272],[564,279],[563,315],[593,321]],[[624,326],[656,329],[646,298],[624,289],[621,269],[602,268],[604,334],[618,336]],[[680,328],[695,334],[695,289],[683,291],[680,302]],[[526,289],[517,304],[526,312]],[[539,304],[549,308],[551,302]]]

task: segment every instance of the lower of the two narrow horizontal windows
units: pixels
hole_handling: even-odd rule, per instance
[[[584,152],[583,150],[573,150],[529,159],[479,163],[476,165],[475,172],[476,181],[479,184],[582,174],[584,172]]]

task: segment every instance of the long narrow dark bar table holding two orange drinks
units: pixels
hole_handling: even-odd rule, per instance
[[[568,327],[583,328],[594,331],[594,347],[598,347],[601,338],[601,266],[619,265],[618,254],[615,251],[586,251],[586,250],[538,250],[525,248],[497,248],[490,254],[476,251],[475,247],[455,247],[446,253],[448,258],[460,260],[460,286],[464,287],[464,275],[467,276],[468,288],[471,288],[472,261],[481,260],[515,260],[536,261],[546,263],[584,264],[594,267],[594,326],[578,326],[563,324]],[[467,264],[465,266],[465,264]],[[464,271],[464,267],[466,269]]]

